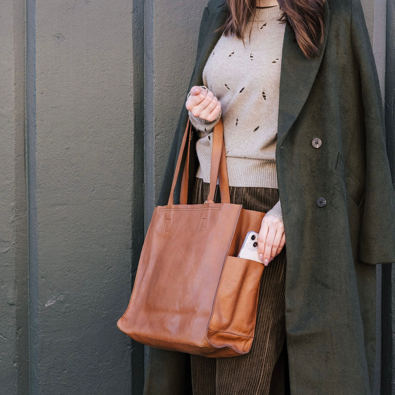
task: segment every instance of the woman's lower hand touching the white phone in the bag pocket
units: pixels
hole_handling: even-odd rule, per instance
[[[261,222],[258,236],[258,253],[263,264],[267,266],[273,258],[280,254],[285,245],[284,224],[275,215],[266,214]]]

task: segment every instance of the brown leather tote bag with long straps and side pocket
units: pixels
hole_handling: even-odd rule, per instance
[[[246,233],[259,232],[265,213],[230,203],[222,117],[214,127],[207,200],[186,204],[191,133],[188,118],[169,202],[154,209],[117,326],[151,347],[207,357],[246,354],[264,265],[237,255]],[[173,204],[183,157],[181,204]],[[214,203],[218,177],[221,203]]]

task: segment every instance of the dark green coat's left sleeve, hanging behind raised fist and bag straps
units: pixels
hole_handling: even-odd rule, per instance
[[[198,49],[197,49],[197,54],[196,54],[196,59],[195,59],[195,67],[194,67],[194,70],[192,71],[192,75],[190,77],[190,81],[188,84],[188,87],[189,87],[188,91],[190,89],[190,85],[191,85],[192,79],[194,77],[195,68],[196,68],[196,61],[198,60],[199,51],[201,49],[201,45],[203,44],[205,34],[207,33],[208,19],[209,19],[209,9],[208,9],[208,7],[206,7],[203,10],[203,15],[202,15],[201,21],[200,21]],[[183,136],[183,133],[185,131],[185,126],[186,126],[186,122],[184,122],[184,121],[185,121],[186,117],[188,117],[188,111],[185,107],[186,96],[188,93],[189,92],[187,92],[184,97],[184,102],[182,104],[181,114],[179,115],[178,124],[177,124],[177,127],[175,128],[175,133],[173,134],[173,136],[169,136],[169,139],[172,138],[172,143],[171,143],[171,147],[170,147],[169,156],[167,159],[165,174],[162,179],[162,186],[160,188],[159,197],[156,202],[156,205],[159,205],[159,206],[166,205],[167,201],[169,200],[171,182],[173,180],[175,165],[177,163],[178,153],[179,153],[179,149],[181,147],[182,136]],[[184,130],[182,130],[183,125],[185,125]],[[178,196],[176,196],[176,194]],[[174,203],[176,203],[179,200],[179,191],[177,191],[177,185],[176,185],[176,191],[175,191],[174,195],[175,195],[174,196]]]

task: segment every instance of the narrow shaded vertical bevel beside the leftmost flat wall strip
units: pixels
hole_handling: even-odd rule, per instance
[[[26,149],[26,4],[13,2],[15,125],[15,361],[17,395],[29,392],[28,185]],[[15,365],[15,364],[14,364]]]

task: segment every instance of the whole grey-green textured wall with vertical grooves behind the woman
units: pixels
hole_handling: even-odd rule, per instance
[[[384,97],[387,2],[362,3]],[[116,324],[206,5],[0,2],[0,395],[142,394]]]

